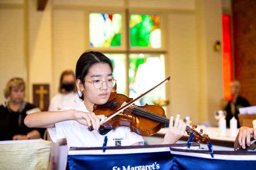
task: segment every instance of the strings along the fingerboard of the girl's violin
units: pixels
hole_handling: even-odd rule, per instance
[[[116,103],[120,103],[118,104],[118,106],[121,106],[122,102],[116,102]],[[131,108],[131,109],[128,109],[128,108]],[[136,106],[136,105],[131,105],[130,107],[128,107],[126,110],[128,111],[133,111],[133,110],[136,110],[136,111],[139,111],[140,112],[140,115],[139,116],[142,116],[143,117],[143,114],[146,114],[147,116],[151,116],[151,118],[155,121],[158,121],[161,123],[164,123],[164,124],[169,124],[169,119],[163,117],[163,116],[160,116],[156,113],[152,113],[152,112],[149,112],[147,110],[144,110],[144,109],[141,109],[140,107]],[[162,122],[163,121],[163,122]],[[173,121],[174,123],[175,121]],[[193,131],[189,126],[186,126],[186,130],[190,130],[191,132],[194,132],[196,133],[197,135],[200,135],[198,132],[196,131]]]

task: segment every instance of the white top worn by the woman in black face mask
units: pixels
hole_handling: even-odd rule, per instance
[[[57,111],[62,109],[62,107],[76,107],[77,103],[74,102],[75,92],[68,94],[56,94],[51,99],[48,111]]]

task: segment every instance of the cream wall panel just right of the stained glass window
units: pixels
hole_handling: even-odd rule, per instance
[[[193,122],[198,122],[196,18],[194,13],[170,13],[167,22],[170,113],[182,118],[190,116]]]

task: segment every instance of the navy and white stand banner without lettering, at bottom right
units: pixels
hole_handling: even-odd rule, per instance
[[[255,170],[256,152],[214,151],[171,148],[173,170]]]

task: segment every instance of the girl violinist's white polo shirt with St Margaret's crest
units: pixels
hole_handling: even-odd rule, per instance
[[[62,110],[75,109],[89,112],[84,102],[80,102],[78,107],[63,108]],[[53,142],[58,142],[63,138],[67,139],[67,146],[70,147],[102,147],[104,138],[107,136],[107,146],[129,146],[136,142],[144,142],[142,137],[130,131],[129,127],[118,126],[116,130],[111,130],[106,135],[100,135],[98,131],[88,131],[87,126],[75,120],[58,122],[55,128],[48,128]]]

